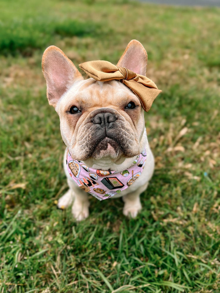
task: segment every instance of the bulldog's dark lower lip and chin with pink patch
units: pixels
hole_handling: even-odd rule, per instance
[[[106,156],[118,158],[121,155],[122,151],[119,144],[109,137],[102,139],[92,153],[94,159],[101,159]]]

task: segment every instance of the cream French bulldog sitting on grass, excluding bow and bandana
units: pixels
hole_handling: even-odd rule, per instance
[[[83,69],[83,64],[80,65]],[[99,64],[98,67],[101,68]],[[95,79],[96,75],[93,72],[90,76],[95,78],[84,80],[75,65],[59,48],[50,46],[43,54],[42,69],[47,83],[47,98],[60,117],[61,136],[69,150],[64,154],[64,170],[70,189],[59,199],[58,207],[64,209],[72,205],[72,214],[78,221],[89,216],[89,194],[86,192],[87,189],[82,189],[84,185],[79,188],[77,184],[84,184],[85,181],[78,180],[80,178],[72,180],[72,177],[77,177],[78,174],[76,172],[73,176],[68,171],[67,153],[71,154],[71,162],[77,162],[76,166],[79,162],[83,164],[80,165],[81,169],[82,166],[87,166],[88,170],[92,168],[106,171],[104,175],[100,172],[93,174],[92,178],[96,179],[99,177],[97,174],[105,176],[113,170],[115,175],[128,175],[127,170],[130,170],[137,157],[145,151],[145,166],[142,167],[142,172],[138,173],[137,180],[113,196],[123,197],[123,214],[132,218],[141,210],[140,194],[147,188],[153,175],[154,158],[148,144],[144,109],[150,108],[149,104],[153,103],[153,99],[160,91],[157,89],[149,102],[148,94],[142,94],[140,98],[138,91],[130,84],[126,85],[126,77],[120,78],[122,72],[126,76],[137,74],[147,79],[147,53],[140,42],[129,42],[116,68],[119,69],[117,79],[107,78],[100,81],[99,78]],[[111,72],[109,69],[108,74],[112,74]],[[136,86],[138,78],[133,78],[131,85]],[[145,88],[151,90],[152,84]],[[96,184],[95,180],[91,181]],[[95,185],[92,187],[101,192]],[[103,190],[102,193],[105,192],[106,190]]]

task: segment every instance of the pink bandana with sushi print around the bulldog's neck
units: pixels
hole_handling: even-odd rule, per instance
[[[143,171],[146,149],[136,157],[132,166],[123,171],[103,171],[73,160],[69,150],[66,153],[67,170],[77,185],[98,200],[105,200],[128,188]]]

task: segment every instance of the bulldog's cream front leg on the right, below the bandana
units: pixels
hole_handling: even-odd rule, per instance
[[[123,196],[124,201],[124,208],[123,214],[125,216],[130,216],[131,218],[135,218],[138,212],[141,210],[141,201],[140,201],[140,194],[147,188],[148,182],[140,186],[137,190],[133,191],[132,193],[128,193]]]

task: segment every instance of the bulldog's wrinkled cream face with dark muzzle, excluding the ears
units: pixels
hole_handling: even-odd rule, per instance
[[[79,81],[63,96],[56,110],[63,141],[73,158],[140,154],[143,110],[136,95],[121,82]]]

